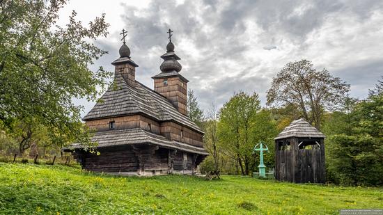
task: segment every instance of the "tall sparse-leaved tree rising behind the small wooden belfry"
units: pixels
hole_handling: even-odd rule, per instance
[[[302,117],[320,129],[325,110],[341,104],[350,86],[325,69],[318,71],[310,61],[290,62],[283,67],[267,90],[267,104],[297,106]]]

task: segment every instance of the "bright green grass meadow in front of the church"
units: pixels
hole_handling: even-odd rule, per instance
[[[118,177],[0,163],[0,214],[337,214],[383,207],[379,188],[222,178]]]

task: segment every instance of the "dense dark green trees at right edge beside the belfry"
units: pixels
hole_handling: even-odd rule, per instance
[[[380,82],[381,84],[382,82]],[[383,94],[381,85],[368,99],[351,102],[350,111],[327,122],[330,180],[345,185],[382,185]]]

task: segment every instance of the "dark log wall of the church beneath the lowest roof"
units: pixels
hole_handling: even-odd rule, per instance
[[[203,160],[201,155],[148,144],[98,148],[98,152],[99,155],[85,151],[73,154],[86,170],[122,175],[194,174]]]

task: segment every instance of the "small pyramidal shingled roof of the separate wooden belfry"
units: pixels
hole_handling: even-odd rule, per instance
[[[310,125],[306,120],[299,119],[292,121],[274,140],[288,137],[325,138],[326,136]]]

